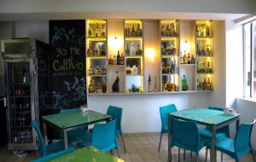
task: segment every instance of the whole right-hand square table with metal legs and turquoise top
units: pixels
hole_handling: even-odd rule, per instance
[[[174,113],[168,114],[168,161],[172,161],[171,153],[171,138],[172,134],[170,132],[171,126],[171,117],[175,119],[183,119],[195,121],[197,124],[202,124],[211,127],[212,129],[212,147],[211,147],[211,161],[216,162],[216,150],[215,150],[215,141],[216,141],[216,130],[224,127],[230,123],[236,122],[236,130],[239,127],[239,117],[240,114],[236,115],[224,115],[224,112],[218,110],[212,110],[208,108],[193,107]]]

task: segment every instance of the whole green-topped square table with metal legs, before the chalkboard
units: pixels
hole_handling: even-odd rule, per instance
[[[109,121],[112,116],[105,113],[97,113],[94,111],[82,112],[80,109],[74,112],[55,113],[42,117],[44,127],[44,141],[48,144],[46,124],[56,130],[63,131],[65,149],[68,149],[67,131],[79,127],[85,127],[89,124],[95,124],[102,121]]]

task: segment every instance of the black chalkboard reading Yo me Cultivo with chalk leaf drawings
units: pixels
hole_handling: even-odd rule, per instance
[[[50,20],[49,44],[51,107],[86,104],[85,20]]]

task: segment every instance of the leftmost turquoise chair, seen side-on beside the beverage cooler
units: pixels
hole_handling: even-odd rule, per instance
[[[49,145],[45,145],[44,143],[44,137],[42,136],[38,123],[36,120],[32,120],[32,127],[37,131],[38,133],[38,153],[40,153],[41,157],[47,156],[49,154],[57,153],[62,150],[65,150],[64,147],[64,142],[59,141],[59,142],[53,142],[50,143]],[[70,147],[72,148],[72,147]]]

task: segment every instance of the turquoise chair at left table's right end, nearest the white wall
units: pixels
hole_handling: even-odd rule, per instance
[[[123,109],[121,107],[109,106],[108,110],[107,110],[107,114],[111,115],[113,117],[113,119],[116,119],[116,134],[117,134],[117,136],[121,136],[124,150],[126,153],[125,141],[123,138],[123,131],[121,128],[122,113],[123,113]]]

